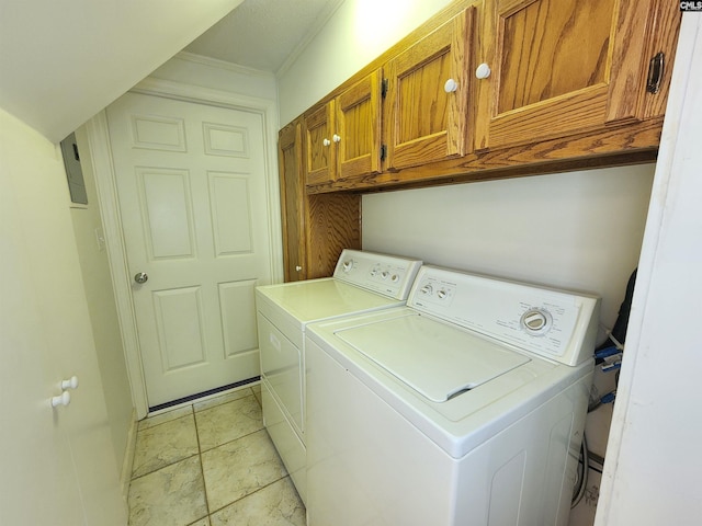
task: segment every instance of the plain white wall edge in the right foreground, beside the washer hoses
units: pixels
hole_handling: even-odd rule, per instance
[[[597,525],[702,517],[702,18],[683,15]]]

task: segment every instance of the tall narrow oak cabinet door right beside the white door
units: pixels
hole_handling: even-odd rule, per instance
[[[283,222],[285,281],[305,279],[305,181],[302,155],[302,122],[292,122],[279,134],[278,156]]]

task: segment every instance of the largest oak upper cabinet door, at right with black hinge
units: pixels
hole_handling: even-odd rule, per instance
[[[659,0],[485,0],[477,62],[490,73],[476,79],[475,148],[650,116],[650,41],[670,9]]]

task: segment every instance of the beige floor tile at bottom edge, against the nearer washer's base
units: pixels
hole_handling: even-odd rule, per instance
[[[305,506],[290,477],[210,516],[212,526],[305,526]]]

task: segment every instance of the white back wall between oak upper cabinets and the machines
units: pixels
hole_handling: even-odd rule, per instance
[[[589,290],[614,323],[636,267],[654,165],[363,196],[363,248]]]

